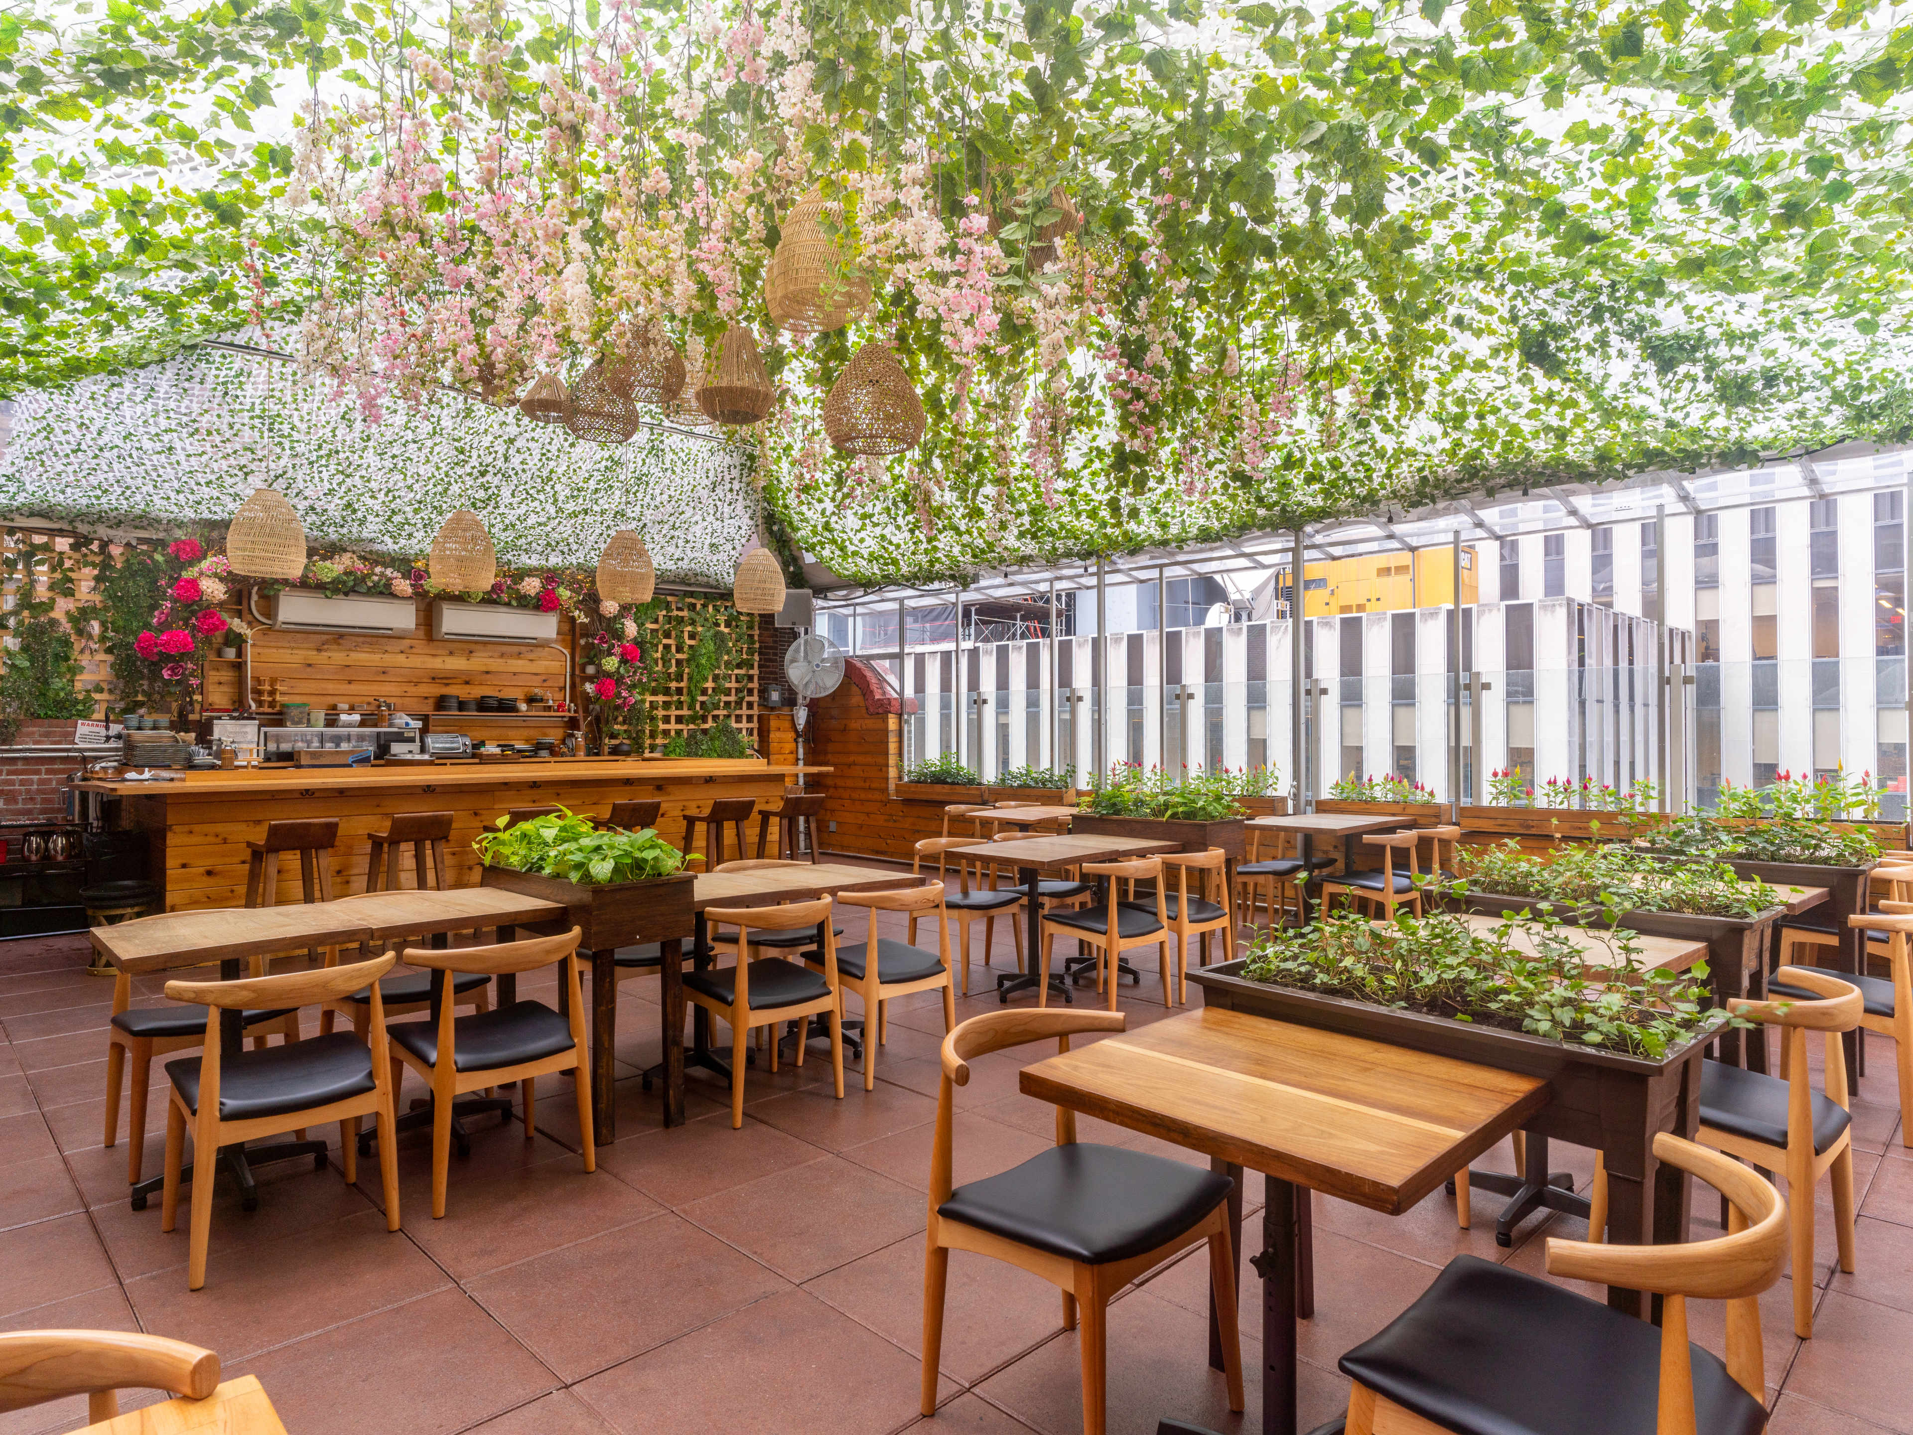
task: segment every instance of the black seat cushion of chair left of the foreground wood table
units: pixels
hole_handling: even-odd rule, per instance
[[[937,1215],[1067,1261],[1154,1251],[1228,1200],[1228,1177],[1121,1146],[1052,1146],[951,1192]]]

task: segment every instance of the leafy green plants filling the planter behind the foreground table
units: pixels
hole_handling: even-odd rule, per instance
[[[1594,976],[1590,939],[1611,955]],[[1349,913],[1259,932],[1242,974],[1653,1060],[1716,1026],[1745,1026],[1712,1006],[1704,962],[1685,972],[1647,968],[1632,932],[1576,930],[1571,941],[1544,916],[1475,932],[1452,913],[1402,913],[1393,922]]]

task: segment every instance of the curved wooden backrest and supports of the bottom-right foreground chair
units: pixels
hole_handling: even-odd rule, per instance
[[[1655,1137],[1655,1158],[1701,1177],[1727,1198],[1727,1234],[1683,1246],[1594,1246],[1550,1236],[1548,1274],[1666,1297],[1660,1320],[1657,1431],[1693,1435],[1687,1301],[1727,1303],[1727,1374],[1756,1401],[1766,1401],[1760,1292],[1781,1278],[1781,1261],[1787,1255],[1787,1203],[1752,1169],[1666,1131]],[[1814,1200],[1812,1192],[1802,1192],[1802,1198]]]

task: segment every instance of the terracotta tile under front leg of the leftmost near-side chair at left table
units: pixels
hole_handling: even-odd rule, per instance
[[[128,1280],[126,1295],[142,1326],[207,1345],[222,1360],[312,1336],[448,1284],[417,1246],[385,1228],[381,1211],[253,1246],[222,1244],[214,1223],[207,1284],[197,1292],[186,1290],[184,1209],[170,1240],[178,1242],[182,1265]]]

